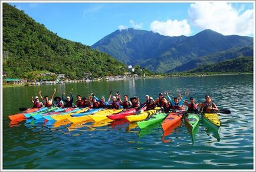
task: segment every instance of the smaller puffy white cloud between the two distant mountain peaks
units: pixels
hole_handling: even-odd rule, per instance
[[[173,21],[171,19],[168,19],[167,21],[155,20],[150,24],[150,29],[153,32],[170,37],[180,35],[188,36],[191,34],[191,27],[186,19],[183,19],[182,21],[176,19]]]

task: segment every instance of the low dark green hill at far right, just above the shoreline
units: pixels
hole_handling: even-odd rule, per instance
[[[189,72],[253,72],[253,57],[238,57],[215,64],[205,64]]]

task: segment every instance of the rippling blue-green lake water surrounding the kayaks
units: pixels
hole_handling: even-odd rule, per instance
[[[184,122],[164,134],[161,123],[140,130],[136,124],[114,121],[102,124],[52,124],[21,121],[10,125],[8,115],[31,107],[30,97],[69,92],[108,97],[109,91],[139,96],[190,91],[196,102],[211,95],[219,109],[219,134],[199,121],[195,137]],[[63,85],[3,88],[4,169],[253,169],[253,75],[181,77],[101,81]]]

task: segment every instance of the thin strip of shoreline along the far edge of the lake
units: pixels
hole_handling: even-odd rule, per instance
[[[56,84],[68,84],[68,83],[77,83],[77,82],[93,82],[93,81],[124,81],[124,80],[132,80],[132,79],[149,79],[149,78],[178,78],[178,77],[209,77],[209,76],[222,76],[222,75],[253,75],[253,72],[244,72],[244,73],[237,73],[237,74],[191,74],[191,75],[154,75],[154,76],[147,76],[147,77],[119,77],[114,78],[111,80],[106,80],[102,78],[94,78],[93,80],[71,80],[71,81],[63,81],[62,83],[57,83],[52,81],[52,84],[3,84],[3,88],[9,87],[22,87],[22,86],[36,86],[36,85],[56,85]]]

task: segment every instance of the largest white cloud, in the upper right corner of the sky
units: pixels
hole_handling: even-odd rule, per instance
[[[253,33],[253,10],[234,9],[227,2],[196,2],[191,4],[189,21],[199,29],[212,29],[224,35]]]

